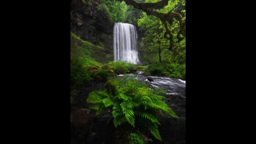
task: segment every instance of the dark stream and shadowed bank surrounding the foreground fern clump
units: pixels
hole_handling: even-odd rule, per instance
[[[155,77],[154,82],[146,81],[147,76],[137,76],[141,81],[150,85],[157,85],[167,90],[163,96],[164,101],[181,118],[176,119],[169,116],[162,116],[159,119],[159,133],[162,142],[153,140],[153,143],[185,143],[186,139],[186,87],[179,79]],[[120,77],[120,76],[119,76]],[[114,78],[114,77],[112,77]],[[169,85],[169,87],[168,87]],[[116,143],[118,139],[117,130],[113,124],[113,116],[110,110],[106,110],[99,116],[94,110],[89,109],[86,98],[92,91],[104,90],[104,82],[91,82],[90,85],[77,87],[77,103],[71,104],[71,143]]]

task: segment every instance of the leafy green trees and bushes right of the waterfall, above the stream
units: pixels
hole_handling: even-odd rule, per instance
[[[156,2],[146,0],[146,2]],[[185,1],[170,1],[164,9],[159,11],[169,12],[173,7],[174,11],[179,3],[185,4]],[[183,11],[182,12],[186,12]],[[170,51],[169,43],[164,38],[165,28],[161,20],[154,16],[143,13],[143,17],[138,20],[138,26],[144,36],[139,42],[140,58],[148,65],[145,70],[146,75],[167,76],[167,77],[186,77],[186,38],[180,43],[176,37],[179,23],[173,21],[171,31],[175,42],[175,51]],[[161,59],[159,57],[161,56]]]

